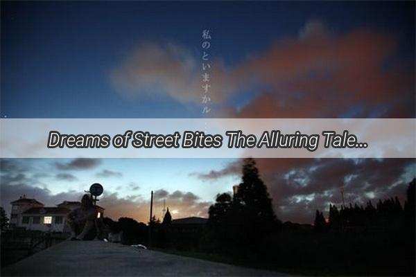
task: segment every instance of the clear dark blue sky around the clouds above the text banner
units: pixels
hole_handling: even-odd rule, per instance
[[[355,28],[394,33],[414,58],[414,3],[359,2],[2,2],[1,116],[8,118],[200,117],[170,96],[125,98],[110,73],[138,44],[175,43],[200,55],[213,32],[225,66],[293,37],[310,19],[340,35]],[[256,93],[255,91],[252,93]],[[252,97],[240,93],[229,104]]]

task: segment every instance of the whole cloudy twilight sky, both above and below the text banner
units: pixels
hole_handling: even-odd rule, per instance
[[[202,30],[218,118],[415,117],[415,3],[1,2],[1,118],[199,118]],[[93,182],[107,215],[205,216],[235,159],[3,159],[1,205],[54,205]],[[397,195],[407,159],[260,159],[281,220]]]

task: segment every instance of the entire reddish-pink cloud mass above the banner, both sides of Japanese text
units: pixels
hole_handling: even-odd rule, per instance
[[[210,96],[220,117],[413,117],[415,69],[398,48],[394,34],[369,29],[334,34],[311,19],[298,34],[238,64],[212,61]],[[198,55],[173,43],[141,44],[112,71],[112,83],[127,96],[168,96],[200,105]]]

